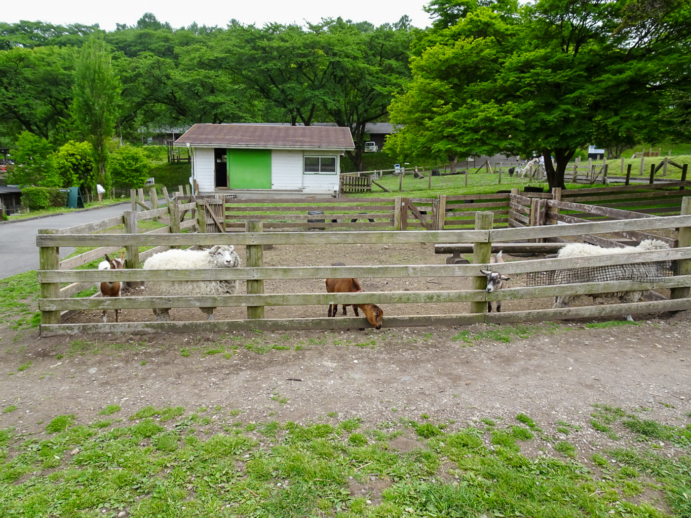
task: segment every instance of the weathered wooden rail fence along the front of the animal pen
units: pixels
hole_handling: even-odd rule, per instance
[[[538,203],[542,203],[538,199]],[[549,207],[549,202],[545,201]],[[400,303],[469,303],[467,312],[453,315],[388,316],[385,327],[468,325],[477,322],[516,323],[562,318],[596,318],[625,313],[647,313],[691,309],[689,286],[691,285],[691,198],[682,204],[684,215],[644,217],[603,222],[538,225],[536,227],[493,228],[493,213],[477,212],[475,229],[446,231],[362,231],[362,232],[262,232],[261,222],[248,222],[247,232],[228,234],[198,233],[125,233],[125,234],[66,234],[57,231],[41,231],[37,236],[41,269],[37,272],[41,284],[41,334],[72,334],[78,332],[214,332],[239,329],[349,329],[366,327],[364,318],[261,318],[263,307],[280,305],[330,305],[330,304],[400,304]],[[490,250],[493,243],[515,240],[546,240],[574,238],[602,233],[641,232],[650,229],[679,228],[678,247],[640,253],[615,253],[570,259],[540,259],[507,262],[502,273],[511,275],[527,272],[544,272],[576,267],[622,265],[631,262],[675,261],[675,275],[649,282],[620,280],[613,282],[587,282],[571,285],[538,287],[512,287],[487,294],[486,278],[479,276],[481,268],[489,268]],[[251,230],[251,231],[249,231]],[[341,247],[357,243],[473,243],[472,265],[379,265],[344,267],[264,267],[261,250],[265,244],[320,244]],[[62,270],[59,269],[59,247],[171,247],[199,244],[234,244],[247,246],[246,267],[205,270]],[[471,277],[473,289],[455,291],[373,291],[358,294],[325,293],[263,293],[267,279],[322,279],[328,277],[408,278],[408,277]],[[150,280],[245,280],[247,294],[230,296],[169,296],[169,297],[122,297],[122,298],[60,298],[61,282],[95,283],[102,280],[140,282]],[[252,289],[249,289],[252,284]],[[643,303],[607,304],[565,309],[539,309],[530,311],[504,311],[487,314],[486,301],[522,298],[543,298],[587,294],[594,291],[626,291],[632,289],[671,289],[668,300]],[[146,309],[152,307],[247,307],[248,318],[243,320],[215,320],[204,322],[121,322],[61,324],[60,311],[102,309]],[[261,309],[261,310],[260,310]]]

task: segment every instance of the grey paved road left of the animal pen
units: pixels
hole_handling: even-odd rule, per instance
[[[70,212],[36,220],[19,220],[0,224],[0,279],[38,269],[39,249],[36,246],[36,235],[39,229],[64,229],[113,218],[113,216],[129,210],[131,210],[129,202],[118,203],[102,209]],[[61,248],[60,257],[64,258],[73,251],[75,251],[74,247]]]

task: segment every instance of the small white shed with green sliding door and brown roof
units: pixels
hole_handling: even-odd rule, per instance
[[[332,195],[355,148],[350,128],[269,124],[194,124],[174,145],[191,148],[200,194],[238,198]]]

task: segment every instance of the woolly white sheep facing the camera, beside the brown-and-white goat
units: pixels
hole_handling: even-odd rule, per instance
[[[232,245],[217,244],[208,250],[170,249],[156,253],[144,262],[146,270],[236,268],[240,258]],[[167,295],[233,295],[237,280],[151,280],[146,282],[150,296]],[[214,320],[216,307],[200,307],[207,320]],[[156,320],[170,320],[169,307],[153,308]]]

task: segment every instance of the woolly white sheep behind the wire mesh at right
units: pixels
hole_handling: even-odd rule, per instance
[[[570,243],[560,249],[557,258],[604,256],[610,253],[632,253],[652,250],[668,249],[669,245],[658,239],[641,241],[637,247],[602,248],[594,244]],[[653,280],[659,278],[661,269],[668,267],[668,262],[636,262],[623,265],[609,265],[587,268],[557,270],[554,272],[554,284],[574,284],[580,282],[605,282],[608,280]],[[635,303],[641,300],[643,294],[650,290],[612,291],[609,293],[588,294],[592,298],[618,298],[621,303]],[[564,295],[554,297],[553,307],[569,307],[580,295]],[[633,321],[630,314],[626,320]]]

